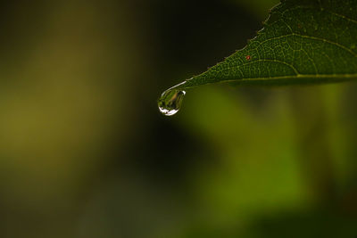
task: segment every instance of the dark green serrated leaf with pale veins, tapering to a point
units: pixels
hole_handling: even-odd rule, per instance
[[[271,10],[264,28],[245,48],[171,89],[354,80],[356,45],[356,0],[286,0]]]

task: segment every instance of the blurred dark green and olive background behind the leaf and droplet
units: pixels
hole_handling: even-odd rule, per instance
[[[4,2],[0,237],[356,237],[356,83],[157,110],[277,3]]]

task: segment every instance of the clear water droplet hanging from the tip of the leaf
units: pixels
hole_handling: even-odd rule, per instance
[[[175,115],[181,108],[182,100],[186,92],[174,89],[166,90],[162,93],[158,101],[159,110],[165,116]]]

